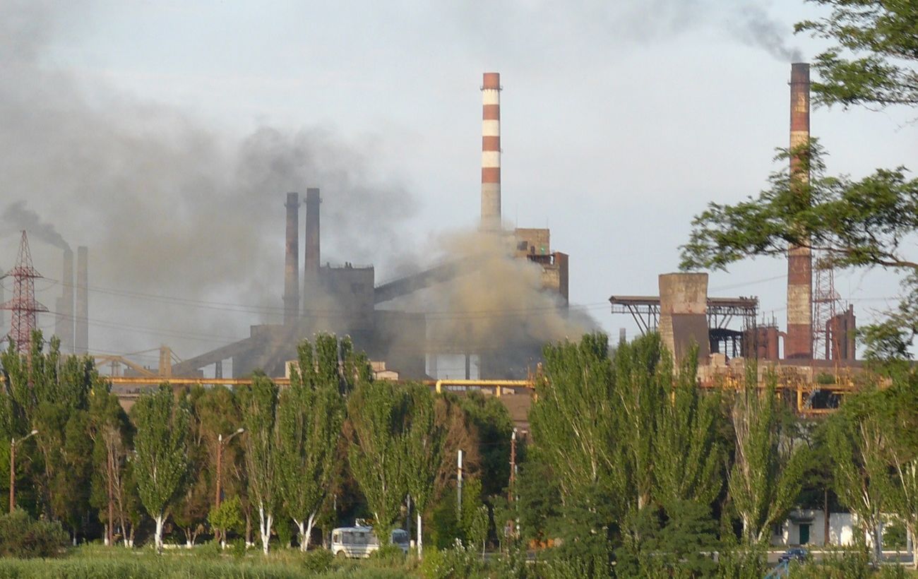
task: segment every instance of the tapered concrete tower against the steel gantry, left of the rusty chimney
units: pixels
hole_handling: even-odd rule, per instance
[[[698,346],[700,362],[711,354],[708,337],[708,274],[664,273],[660,285],[660,338],[677,362]]]

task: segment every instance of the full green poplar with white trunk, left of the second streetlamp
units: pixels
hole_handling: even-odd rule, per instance
[[[187,481],[189,412],[169,384],[141,395],[131,410],[137,426],[134,474],[140,501],[156,521],[156,550],[162,552],[162,524]]]

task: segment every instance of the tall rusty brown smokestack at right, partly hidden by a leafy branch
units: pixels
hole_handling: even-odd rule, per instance
[[[794,62],[790,65],[790,149],[809,141],[810,65]],[[791,155],[791,191],[797,189],[797,195],[809,195],[805,188],[809,182],[809,164],[800,155]],[[812,254],[809,247],[792,246],[788,248],[788,337],[784,340],[784,357],[811,359],[812,338]]]

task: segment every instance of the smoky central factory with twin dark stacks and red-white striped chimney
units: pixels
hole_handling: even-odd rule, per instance
[[[553,251],[547,228],[507,230],[501,220],[500,191],[500,75],[485,72],[482,91],[482,164],[480,235],[497,236],[506,248],[506,259],[537,264],[543,289],[557,297],[560,309],[568,302],[568,257]],[[252,326],[250,337],[175,364],[174,376],[194,376],[213,367],[215,376],[241,377],[262,369],[283,375],[285,363],[296,356],[297,342],[319,331],[350,335],[359,350],[374,361],[386,363],[402,378],[439,378],[441,355],[465,358],[465,375],[494,378],[522,377],[534,365],[542,348],[536,340],[501,344],[495,354],[468,328],[430,323],[421,306],[407,296],[422,290],[437,291],[459,277],[475,274],[475,256],[444,262],[420,273],[376,285],[372,265],[322,263],[318,188],[306,192],[305,240],[302,284],[299,282],[299,206],[297,193],[285,198],[284,323]],[[499,290],[498,290],[499,291]],[[474,325],[474,320],[468,323]],[[490,350],[493,350],[491,348]],[[508,353],[509,352],[509,353]],[[475,360],[475,364],[473,364]],[[225,372],[226,362],[231,371]],[[473,369],[473,365],[476,366]],[[210,370],[207,370],[211,373]],[[388,372],[388,371],[387,371]],[[450,377],[457,377],[455,375]]]

